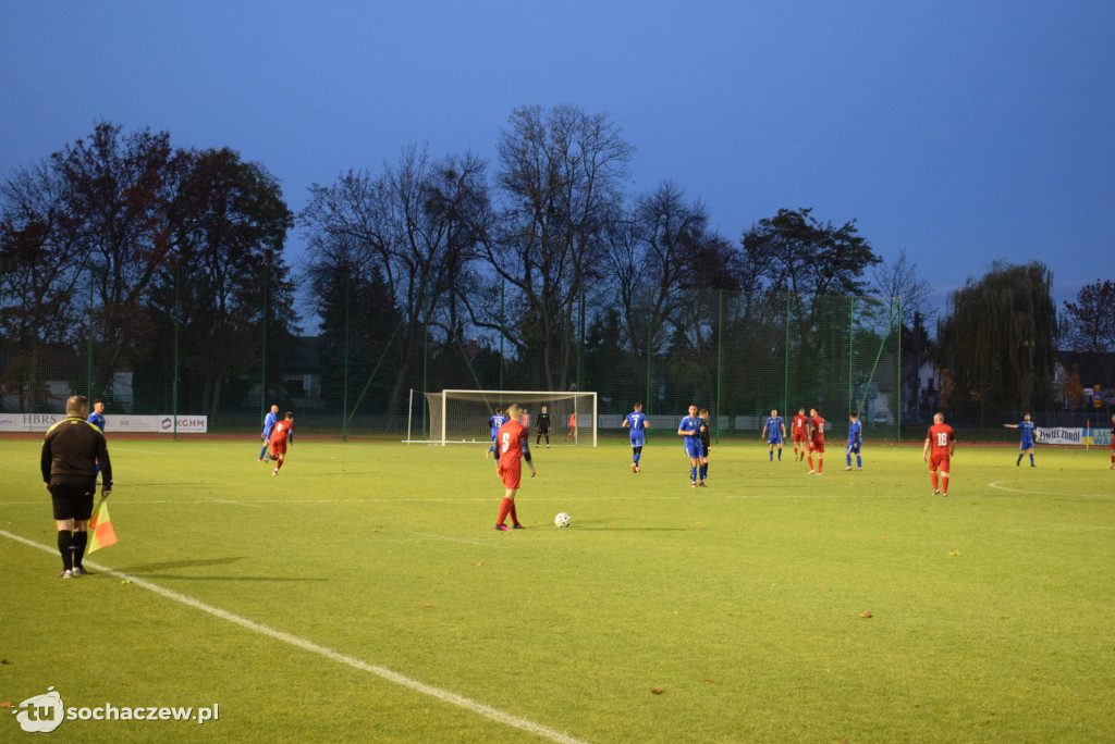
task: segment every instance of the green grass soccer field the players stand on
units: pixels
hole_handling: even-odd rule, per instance
[[[917,447],[821,477],[651,440],[535,449],[110,438],[119,542],[60,580],[38,441],[0,442],[0,738],[52,687],[78,741],[1111,741],[1106,450]],[[572,515],[556,529],[559,511]],[[865,616],[870,614],[870,616]],[[213,708],[213,706],[217,706]]]

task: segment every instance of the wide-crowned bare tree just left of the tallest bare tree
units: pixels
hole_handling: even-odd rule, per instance
[[[350,170],[310,188],[300,222],[311,272],[329,276],[341,267],[363,282],[386,282],[398,309],[392,411],[430,332],[453,341],[469,315],[466,295],[476,283],[473,263],[489,209],[485,170],[474,155],[435,161],[411,145],[378,175]]]

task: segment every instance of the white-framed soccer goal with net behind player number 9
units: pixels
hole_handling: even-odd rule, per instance
[[[520,390],[410,391],[407,442],[467,444],[492,441],[488,419],[512,403],[525,409],[531,444],[539,437],[542,407],[550,413],[551,446],[597,446],[597,393]],[[543,434],[542,443],[546,438]]]

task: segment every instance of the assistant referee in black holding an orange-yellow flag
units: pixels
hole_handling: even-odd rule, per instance
[[[66,419],[50,427],[42,440],[42,482],[54,501],[64,567],[58,576],[64,579],[88,572],[81,568],[81,559],[88,542],[86,530],[93,516],[98,464],[105,479],[103,496],[113,490],[108,444],[105,434],[86,421],[88,412],[85,397],[71,395],[66,401]]]

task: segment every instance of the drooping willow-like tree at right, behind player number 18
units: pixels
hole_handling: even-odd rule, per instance
[[[1044,410],[1053,400],[1057,306],[1053,275],[1040,262],[996,263],[950,295],[938,337],[938,366],[949,370],[949,408]]]

